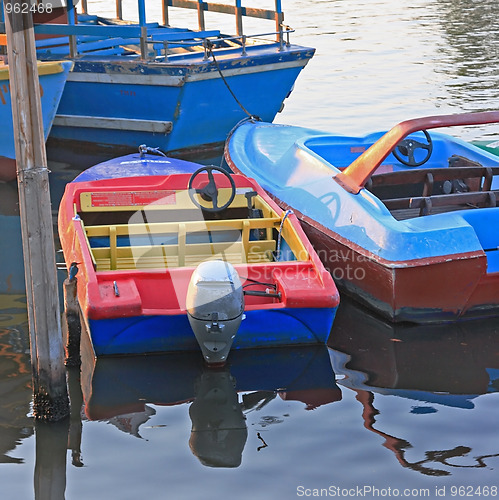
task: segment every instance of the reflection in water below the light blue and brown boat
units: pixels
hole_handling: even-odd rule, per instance
[[[364,428],[382,436],[383,446],[403,467],[424,475],[448,476],[452,468],[487,467],[488,459],[499,456],[499,452],[481,454],[478,448],[464,444],[427,448],[436,446],[441,438],[446,442],[472,439],[470,434],[454,435],[447,419],[443,433],[435,435],[432,424],[437,429],[442,425],[439,413],[444,413],[445,407],[473,410],[480,395],[499,391],[498,333],[496,321],[392,325],[345,299],[329,345],[334,370],[341,377],[339,384],[354,391],[362,405]],[[378,404],[384,404],[383,396],[408,400],[408,413],[415,416],[414,427],[407,422],[404,426],[410,439],[381,429],[378,422],[386,425],[383,417],[389,416],[376,404],[380,397]],[[416,418],[422,415],[426,425],[421,427],[423,422]],[[483,418],[481,423],[484,428],[488,424]],[[414,452],[421,448],[423,451]],[[408,450],[412,456],[424,454],[424,458],[410,460]]]

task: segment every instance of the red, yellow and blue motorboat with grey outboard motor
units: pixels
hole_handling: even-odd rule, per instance
[[[95,355],[324,344],[338,291],[296,216],[245,176],[146,149],[84,171],[60,204]]]

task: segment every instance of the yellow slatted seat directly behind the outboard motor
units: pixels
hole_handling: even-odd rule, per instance
[[[85,228],[98,271],[197,266],[205,260],[232,264],[271,262],[281,219],[116,224]],[[251,240],[253,229],[265,239]],[[284,237],[286,234],[284,234]]]

